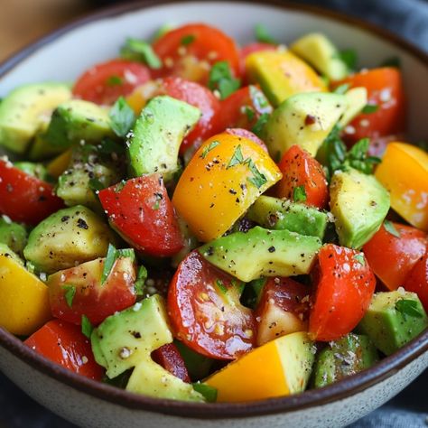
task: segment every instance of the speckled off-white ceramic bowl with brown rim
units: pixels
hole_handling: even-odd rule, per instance
[[[355,47],[361,64],[388,57],[402,61],[409,131],[428,135],[428,56],[365,23],[312,7],[274,0],[241,2],[143,2],[119,5],[73,23],[0,65],[0,96],[23,83],[76,79],[99,60],[114,57],[126,36],[149,37],[163,23],[212,23],[246,42],[256,23],[278,40],[321,31],[340,48]],[[0,329],[0,370],[56,414],[81,426],[280,427],[343,426],[396,395],[428,367],[428,331],[376,367],[302,395],[254,403],[197,405],[133,395],[62,369]]]

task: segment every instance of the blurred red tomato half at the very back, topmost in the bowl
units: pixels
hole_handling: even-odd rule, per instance
[[[158,77],[180,76],[207,83],[210,67],[228,61],[230,70],[239,76],[239,52],[235,42],[217,28],[190,23],[165,33],[154,42],[154,51],[163,60]]]

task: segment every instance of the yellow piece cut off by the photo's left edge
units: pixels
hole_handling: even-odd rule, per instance
[[[0,327],[28,336],[50,319],[48,287],[5,251],[0,252]]]

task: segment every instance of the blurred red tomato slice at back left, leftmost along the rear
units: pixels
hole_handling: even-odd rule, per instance
[[[109,83],[109,79],[122,81]],[[114,104],[119,97],[126,97],[137,86],[151,79],[150,70],[139,62],[108,60],[85,71],[73,87],[73,95],[100,105]]]

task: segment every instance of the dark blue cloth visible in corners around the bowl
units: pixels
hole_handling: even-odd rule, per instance
[[[106,2],[106,3],[112,3]],[[428,51],[428,3],[424,0],[301,0],[324,5],[381,24]],[[428,371],[387,405],[349,428],[426,428]],[[73,428],[0,375],[0,428]]]

